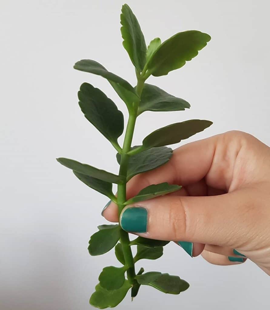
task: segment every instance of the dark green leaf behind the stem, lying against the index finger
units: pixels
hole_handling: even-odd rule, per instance
[[[166,162],[172,157],[173,150],[167,147],[151,148],[141,153],[129,157],[128,161],[128,175],[127,180],[131,179],[134,175],[155,169]],[[117,161],[120,164],[121,155],[117,153]]]

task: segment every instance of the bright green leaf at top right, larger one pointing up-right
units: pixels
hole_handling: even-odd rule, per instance
[[[147,64],[149,73],[161,76],[181,68],[186,61],[197,56],[198,51],[203,49],[210,39],[207,33],[197,30],[176,33],[164,41],[153,53]]]

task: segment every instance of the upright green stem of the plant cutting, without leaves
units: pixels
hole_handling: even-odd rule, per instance
[[[144,81],[145,80],[140,79],[138,77],[136,91],[139,96],[141,96],[142,94]],[[121,153],[119,175],[124,175],[125,177],[127,177],[127,172],[128,172],[129,155],[127,153],[130,151],[130,148],[131,148],[139,103],[140,101],[134,102],[133,111],[129,112],[128,125],[126,129],[124,144],[123,144],[122,153]],[[124,184],[118,184],[117,189],[118,189],[117,191],[118,215],[120,216],[121,211],[124,208],[124,202],[126,201],[126,182]],[[129,240],[128,232],[125,232],[123,229],[121,230],[120,242],[123,248],[125,264],[129,267],[127,269],[128,281],[132,285],[136,285],[137,280],[135,279],[136,273],[135,273],[135,267],[134,267],[134,259],[133,259],[131,247],[129,245],[130,240]]]

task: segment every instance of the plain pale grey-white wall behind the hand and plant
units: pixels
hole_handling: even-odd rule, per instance
[[[113,251],[88,254],[88,240],[107,199],[56,162],[70,157],[114,173],[110,143],[83,117],[77,91],[83,82],[101,88],[120,109],[109,83],[75,71],[94,59],[135,83],[122,47],[122,1],[3,1],[1,33],[0,309],[86,310],[104,266],[119,263]],[[197,29],[212,36],[182,69],[149,83],[191,103],[185,112],[139,117],[134,144],[151,131],[191,118],[214,122],[189,141],[224,131],[247,131],[270,145],[268,1],[129,0],[146,42]],[[121,140],[122,141],[122,140]],[[185,141],[186,142],[186,141]],[[176,146],[173,146],[176,147]],[[175,244],[147,271],[177,274],[191,287],[165,295],[143,287],[118,309],[254,309],[269,306],[269,277],[253,263],[220,267],[191,259]]]

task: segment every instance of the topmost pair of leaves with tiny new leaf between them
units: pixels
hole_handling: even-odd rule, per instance
[[[162,76],[181,68],[204,48],[211,37],[196,30],[180,32],[161,43],[152,40],[146,48],[144,35],[136,16],[127,4],[122,6],[121,34],[123,46],[138,72],[149,71],[148,75]]]

